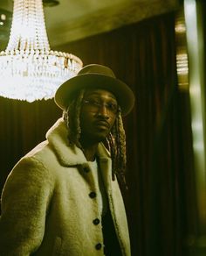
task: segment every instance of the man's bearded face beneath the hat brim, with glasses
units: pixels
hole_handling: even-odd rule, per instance
[[[117,111],[117,100],[111,92],[104,89],[86,90],[80,112],[82,142],[95,144],[106,139]]]

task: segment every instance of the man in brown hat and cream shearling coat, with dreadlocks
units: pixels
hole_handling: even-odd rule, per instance
[[[61,85],[63,118],[24,156],[3,188],[0,255],[130,255],[121,115],[134,94],[113,71],[88,65]]]

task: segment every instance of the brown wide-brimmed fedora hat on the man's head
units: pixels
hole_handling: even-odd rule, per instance
[[[80,89],[106,89],[113,93],[126,116],[134,107],[134,93],[125,82],[113,74],[113,70],[99,64],[82,68],[78,75],[64,82],[57,90],[54,100],[58,107],[66,110]]]

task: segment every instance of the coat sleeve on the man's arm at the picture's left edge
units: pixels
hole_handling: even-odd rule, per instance
[[[52,196],[52,178],[38,160],[17,163],[5,182],[0,217],[0,255],[26,256],[41,245]]]

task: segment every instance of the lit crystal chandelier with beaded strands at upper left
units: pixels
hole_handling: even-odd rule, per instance
[[[9,43],[0,53],[0,96],[50,99],[81,67],[78,57],[50,49],[42,0],[14,0]]]

